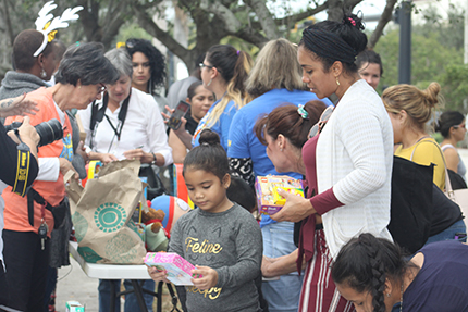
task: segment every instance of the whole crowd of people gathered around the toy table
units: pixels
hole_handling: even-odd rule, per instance
[[[391,86],[380,96],[383,65],[366,48],[360,17],[310,25],[297,46],[271,40],[255,62],[213,46],[167,98],[165,60],[150,41],[131,38],[104,52],[96,42],[66,49],[51,40],[38,50],[42,36],[19,34],[14,70],[0,87],[0,117],[22,123],[8,134],[0,125],[0,311],[54,311],[57,267],[70,264],[73,226],[63,176],[84,178],[89,161],[124,159],[155,176],[182,164],[195,209],[170,217],[168,251],[196,265],[193,286],[177,287],[184,311],[467,311],[458,205],[428,207],[426,244],[412,255],[387,228],[394,157],[433,166],[438,191],[447,177],[467,187],[456,149],[465,115],[435,116],[438,83]],[[181,100],[189,110],[168,127]],[[60,137],[37,147],[32,125],[53,118]],[[440,145],[428,126],[434,120]],[[30,162],[23,192],[16,150]],[[284,207],[258,215],[255,182],[267,175],[301,179],[305,197],[279,189]],[[164,271],[148,274],[148,290],[169,283]],[[99,311],[109,311],[121,283],[99,282]],[[152,311],[153,297],[145,294],[145,302]],[[134,295],[125,296],[125,311],[140,311]]]

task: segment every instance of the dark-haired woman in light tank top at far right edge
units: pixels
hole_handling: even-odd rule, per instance
[[[444,140],[441,142],[442,151],[444,152],[447,169],[460,175],[466,182],[465,174],[467,169],[456,150],[458,142],[466,137],[466,118],[460,112],[448,111],[444,112],[438,121],[435,130],[441,133]]]

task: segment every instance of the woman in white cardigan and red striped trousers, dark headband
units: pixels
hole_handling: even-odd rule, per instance
[[[272,215],[303,220],[298,263],[305,258],[307,269],[299,311],[350,311],[353,304],[342,303],[330,278],[333,257],[360,233],[392,239],[386,225],[393,130],[379,95],[360,79],[354,63],[367,45],[362,30],[360,18],[345,14],[342,22],[309,26],[299,43],[303,80],[319,98],[338,98],[327,125],[312,127],[303,148],[309,196],[316,196],[280,190],[286,204]],[[313,136],[316,128],[322,132]]]

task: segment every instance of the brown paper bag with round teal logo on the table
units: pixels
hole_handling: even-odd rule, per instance
[[[143,263],[145,245],[131,220],[144,199],[139,165],[139,161],[111,162],[85,188],[65,176],[78,252],[86,262]]]

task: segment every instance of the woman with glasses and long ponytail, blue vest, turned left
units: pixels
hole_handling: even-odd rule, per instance
[[[248,101],[244,83],[251,68],[251,58],[230,45],[218,45],[207,51],[201,67],[205,87],[217,96],[217,101],[198,124],[192,145],[199,145],[202,129],[211,128],[220,136],[221,146],[227,150],[231,122],[238,109]]]

